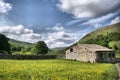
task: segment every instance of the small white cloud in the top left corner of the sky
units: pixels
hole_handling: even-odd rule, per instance
[[[10,3],[5,3],[3,0],[0,0],[0,14],[7,13],[12,9],[12,5]]]

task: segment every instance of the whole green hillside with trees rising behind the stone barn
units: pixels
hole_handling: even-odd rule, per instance
[[[87,34],[77,43],[98,44],[120,53],[120,23],[103,27]],[[76,43],[74,44],[76,45]]]

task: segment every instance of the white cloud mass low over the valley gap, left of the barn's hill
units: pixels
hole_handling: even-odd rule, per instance
[[[47,34],[44,34],[43,40],[51,48],[66,47],[77,40],[77,37],[74,34],[65,32],[62,26],[54,26],[47,29],[53,30],[53,32],[48,32]]]

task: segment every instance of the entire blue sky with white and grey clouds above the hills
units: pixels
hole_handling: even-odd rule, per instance
[[[67,47],[120,22],[120,0],[0,0],[0,33],[19,41]]]

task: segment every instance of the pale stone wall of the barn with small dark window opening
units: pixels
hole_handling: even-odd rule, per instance
[[[95,52],[89,51],[87,48],[74,46],[66,51],[66,59],[73,59],[85,62],[95,62]]]

